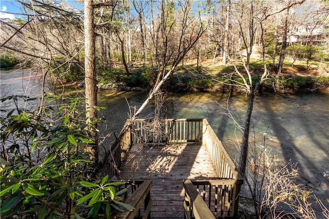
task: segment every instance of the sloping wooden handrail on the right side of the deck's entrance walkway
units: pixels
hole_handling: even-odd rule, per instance
[[[185,209],[185,217],[191,218],[192,213],[196,219],[198,218],[215,218],[215,216],[211,213],[210,209],[206,205],[205,201],[196,191],[192,181],[187,179],[184,181],[184,189],[185,189],[185,200],[184,200],[184,209]]]

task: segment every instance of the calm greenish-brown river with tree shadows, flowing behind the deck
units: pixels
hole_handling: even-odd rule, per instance
[[[40,77],[1,71],[1,98],[8,95],[38,95]],[[28,88],[26,88],[28,87]],[[74,92],[81,88],[69,87]],[[99,126],[102,135],[118,133],[131,110],[145,100],[145,92],[116,92],[99,90],[99,105],[105,106],[102,115],[106,123]],[[1,103],[1,109],[11,106]],[[168,94],[164,104],[167,118],[207,118],[230,156],[239,160],[236,140],[242,132],[236,123],[243,124],[247,99],[245,95],[225,93]],[[140,117],[154,111],[151,103]],[[228,116],[228,113],[234,118]],[[260,94],[252,114],[250,138],[257,145],[265,144],[280,163],[297,163],[303,184],[315,188],[322,200],[329,198],[329,94]],[[266,132],[266,141],[262,142]],[[113,136],[112,136],[113,137]],[[106,144],[106,143],[105,143]],[[253,144],[253,143],[252,143]],[[320,188],[320,189],[319,189]],[[326,204],[328,205],[328,204]]]

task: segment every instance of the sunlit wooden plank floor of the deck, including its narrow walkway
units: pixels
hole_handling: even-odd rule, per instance
[[[200,142],[167,145],[134,144],[118,178],[152,179],[151,218],[184,218],[184,179],[218,177]]]

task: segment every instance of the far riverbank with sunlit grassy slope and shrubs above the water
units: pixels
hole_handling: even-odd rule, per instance
[[[329,92],[329,71],[327,65],[319,63],[291,64],[286,63],[279,79],[276,75],[276,67],[268,65],[268,76],[259,87],[259,92],[299,93],[299,92]],[[237,65],[239,71],[246,80],[247,74],[244,67]],[[111,71],[109,69],[108,71]],[[145,66],[134,64],[131,69],[131,76],[124,76],[123,72],[117,74],[115,80],[104,76],[99,77],[98,87],[100,89],[117,89],[124,91],[150,90],[153,86],[152,76],[156,70]],[[257,83],[263,73],[263,64],[260,60],[252,60],[250,71],[253,83]],[[168,92],[245,92],[241,83],[243,80],[234,74],[233,65],[223,65],[221,62],[213,63],[212,60],[205,60],[200,63],[196,61],[185,62],[177,66],[173,76],[163,84],[163,89]],[[111,82],[115,81],[115,82]]]

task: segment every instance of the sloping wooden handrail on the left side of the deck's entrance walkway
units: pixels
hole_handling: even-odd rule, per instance
[[[135,209],[132,211],[125,211],[116,216],[120,219],[132,219],[138,214],[140,207],[144,204],[144,216],[143,218],[151,218],[151,188],[152,180],[147,179],[142,182],[142,184],[133,192],[133,194],[127,198],[126,204],[130,204]]]

